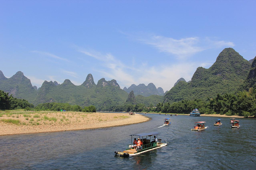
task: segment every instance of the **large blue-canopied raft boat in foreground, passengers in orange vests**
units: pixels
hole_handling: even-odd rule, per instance
[[[128,148],[124,151],[115,151],[115,154],[119,155],[119,156],[135,156],[135,155],[139,155],[144,152],[148,152],[148,151],[166,146],[167,143],[162,143],[161,139],[158,139],[158,141],[155,141],[154,137],[152,137],[152,136],[156,136],[156,139],[157,139],[157,135],[159,135],[159,134],[160,133],[158,133],[158,132],[131,134],[130,135],[132,138],[131,144],[128,145]],[[142,139],[141,140],[142,146],[137,148],[137,150],[133,145],[134,136],[136,136],[136,137],[138,136],[137,138]],[[151,137],[153,138],[153,141],[151,141]]]

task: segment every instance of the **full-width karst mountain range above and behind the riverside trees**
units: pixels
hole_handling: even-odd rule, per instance
[[[225,48],[215,63],[208,69],[198,67],[191,81],[180,78],[172,89],[165,92],[153,83],[135,84],[129,88],[120,88],[116,80],[100,79],[94,83],[93,76],[88,74],[79,86],[66,79],[62,84],[44,81],[37,89],[30,80],[18,71],[6,78],[0,71],[0,90],[13,97],[26,99],[34,105],[48,102],[69,103],[80,106],[96,106],[97,110],[110,110],[113,106],[123,105],[128,93],[134,92],[136,103],[146,106],[160,102],[176,102],[180,100],[207,100],[218,93],[235,93],[256,87],[256,60],[247,61],[233,48]]]

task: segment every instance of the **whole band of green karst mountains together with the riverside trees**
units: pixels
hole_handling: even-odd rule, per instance
[[[115,112],[189,113],[198,108],[205,114],[254,116],[255,71],[255,59],[251,65],[233,48],[225,48],[209,69],[198,67],[191,81],[179,79],[165,96],[159,94],[163,93],[163,89],[156,89],[153,83],[148,86],[133,84],[122,90],[116,80],[106,81],[102,78],[96,85],[91,74],[80,86],[66,79],[62,84],[45,81],[37,89],[21,71],[11,78],[6,78],[0,71],[0,90],[3,90],[0,109],[32,107],[30,102],[38,109],[49,110],[84,108],[84,111],[90,112],[97,108],[98,111]],[[8,96],[8,93],[20,99]],[[12,98],[10,101],[15,101],[11,107],[10,102],[4,102],[8,97]]]

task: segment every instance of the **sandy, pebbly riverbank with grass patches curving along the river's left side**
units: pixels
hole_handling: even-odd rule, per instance
[[[16,124],[7,123],[16,120]],[[149,121],[143,115],[127,113],[12,113],[0,117],[0,136],[23,133],[40,133],[66,130],[107,128]],[[18,122],[18,123],[17,123]]]

